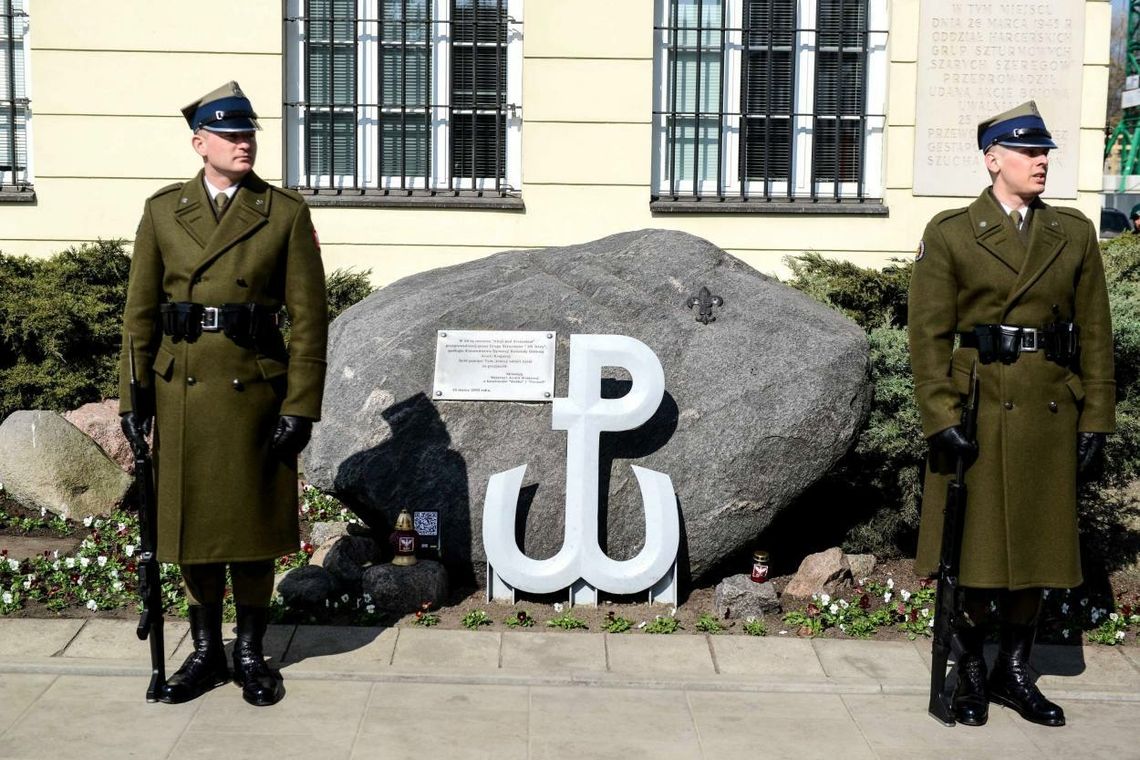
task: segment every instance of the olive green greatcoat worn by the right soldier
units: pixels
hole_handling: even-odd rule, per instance
[[[978,365],[978,458],[967,471],[963,586],[1068,588],[1081,582],[1076,524],[1077,432],[1112,432],[1113,337],[1097,230],[1080,212],[1041,201],[1028,250],[987,189],[926,228],[911,279],[909,329],[922,433],[959,424],[975,349],[954,334],[1001,322],[1081,330],[1075,371],[1043,351]],[[933,574],[953,463],[927,460],[915,569]]]

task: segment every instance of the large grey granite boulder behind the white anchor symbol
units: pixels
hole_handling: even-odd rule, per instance
[[[702,286],[724,300],[710,324],[686,304]],[[487,480],[523,464],[520,546],[535,558],[557,551],[567,436],[551,430],[547,403],[433,402],[441,329],[555,330],[559,397],[571,333],[648,344],[666,394],[642,427],[602,435],[602,541],[616,559],[640,550],[644,517],[629,465],[663,472],[682,513],[682,574],[694,579],[752,546],[847,451],[871,399],[868,342],[855,324],[683,232],[510,251],[399,280],[332,326],[304,472],[380,536],[401,508],[439,509],[443,561],[477,569]],[[621,395],[627,377],[610,375],[603,392]]]

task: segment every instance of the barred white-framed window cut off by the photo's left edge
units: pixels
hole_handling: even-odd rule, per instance
[[[5,44],[7,52],[0,55],[6,55],[6,66],[8,72],[8,81],[5,82],[6,89],[11,89],[11,98],[9,100],[0,100],[0,120],[6,122],[11,119],[11,141],[9,145],[13,147],[13,166],[8,170],[0,170],[0,203],[13,203],[13,202],[34,202],[35,201],[35,181],[34,181],[34,166],[32,150],[32,77],[28,76],[28,65],[31,63],[31,14],[27,9],[28,0],[0,0],[0,39],[8,40],[8,28],[9,24],[13,33],[16,32],[16,26],[19,25],[22,28],[19,31],[21,44],[13,46],[10,43]],[[18,10],[16,9],[18,7]],[[22,73],[22,79],[16,77],[17,66],[16,59],[19,58],[18,71]],[[23,91],[23,96],[17,93]],[[24,164],[18,166],[17,156],[18,152],[15,146],[18,145],[18,121],[16,119],[16,107],[22,105],[24,108],[24,125],[23,125],[23,142],[24,142]]]

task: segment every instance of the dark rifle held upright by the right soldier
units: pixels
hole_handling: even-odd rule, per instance
[[[962,433],[966,440],[977,444],[978,433],[978,362],[970,370],[970,392],[962,408]],[[938,559],[937,596],[934,611],[934,643],[930,647],[930,705],[935,720],[944,726],[954,725],[952,697],[946,694],[946,663],[954,641],[954,627],[962,614],[961,589],[958,571],[962,555],[962,525],[966,520],[966,468],[968,451],[956,456],[954,480],[946,488],[946,508],[942,522],[942,555]],[[961,652],[956,654],[961,657]]]

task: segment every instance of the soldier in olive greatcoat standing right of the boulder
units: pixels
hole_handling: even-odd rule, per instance
[[[959,451],[970,369],[978,362],[977,459],[967,471],[954,717],[986,722],[988,703],[1065,725],[1029,675],[1042,589],[1078,586],[1077,472],[1115,425],[1113,335],[1097,229],[1041,202],[1057,145],[1031,100],[978,125],[992,187],[927,224],[910,288],[910,348],[930,443],[915,570],[938,566],[946,484]],[[954,348],[955,337],[958,348]],[[978,626],[1000,611],[986,676]]]

